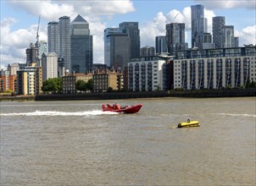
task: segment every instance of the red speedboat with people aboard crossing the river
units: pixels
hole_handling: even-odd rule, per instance
[[[109,104],[103,104],[102,108],[103,111],[109,111],[109,112],[124,112],[124,113],[136,113],[139,112],[142,107],[142,104],[138,104],[135,106],[125,106],[120,107],[119,104],[114,104],[113,106],[110,106]]]

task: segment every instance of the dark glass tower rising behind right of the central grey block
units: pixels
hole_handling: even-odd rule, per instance
[[[128,34],[131,40],[131,57],[140,56],[140,30],[138,22],[123,22],[120,23],[120,32]]]

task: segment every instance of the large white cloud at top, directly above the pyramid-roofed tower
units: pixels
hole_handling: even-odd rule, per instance
[[[23,9],[29,14],[41,14],[42,19],[48,21],[57,20],[59,17],[69,15],[75,19],[78,13],[86,17],[99,20],[104,15],[126,14],[135,11],[133,3],[130,0],[123,1],[17,1],[9,0],[12,6],[17,9]],[[107,17],[108,17],[107,16]],[[108,17],[109,18],[109,17]]]

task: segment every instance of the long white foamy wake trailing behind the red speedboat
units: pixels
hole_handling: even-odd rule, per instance
[[[58,112],[58,111],[36,111],[20,113],[1,113],[1,116],[96,116],[118,114],[117,112],[85,111],[85,112]]]

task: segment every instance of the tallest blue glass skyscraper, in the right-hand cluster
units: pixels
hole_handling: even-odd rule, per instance
[[[192,47],[202,48],[203,32],[205,32],[205,23],[203,14],[203,5],[197,4],[191,6],[191,24],[192,24]]]

